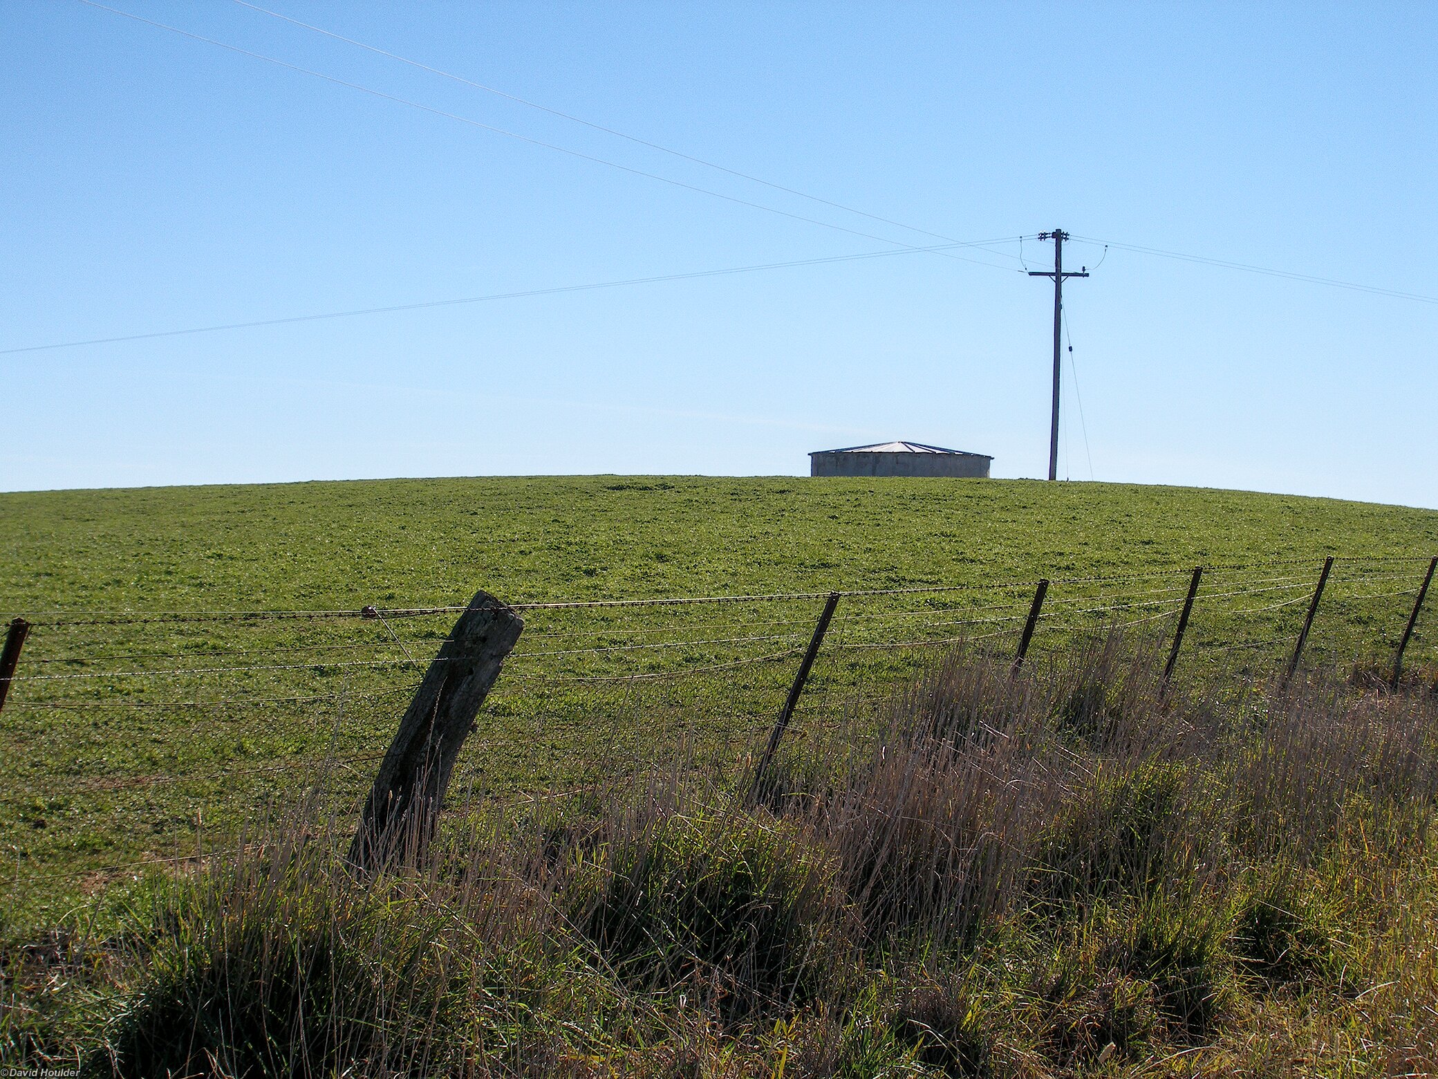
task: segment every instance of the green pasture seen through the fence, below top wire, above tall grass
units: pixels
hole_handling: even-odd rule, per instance
[[[811,738],[961,645],[1012,655],[1031,639],[1035,653],[1057,653],[1116,629],[1175,642],[1185,609],[1171,656],[1186,675],[1273,673],[1300,659],[1396,672],[1402,649],[1434,659],[1438,634],[1419,613],[1435,563],[1309,557],[1043,583],[515,603],[525,630],[450,790],[466,804],[546,798],[680,750],[690,767],[738,775],[785,702],[785,738]],[[322,788],[336,811],[357,806],[463,610],[17,616],[0,657],[4,902],[19,909],[214,853],[303,790]]]

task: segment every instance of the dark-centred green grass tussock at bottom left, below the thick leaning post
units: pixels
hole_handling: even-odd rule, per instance
[[[394,1067],[467,1021],[459,987],[483,983],[483,950],[456,947],[441,912],[403,886],[344,888],[306,856],[201,878],[152,924],[148,977],[108,1030],[119,1075]]]

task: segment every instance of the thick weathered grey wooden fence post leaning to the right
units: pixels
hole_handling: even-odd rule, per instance
[[[429,844],[460,747],[523,619],[480,591],[454,623],[400,719],[349,844],[349,863],[371,873]]]

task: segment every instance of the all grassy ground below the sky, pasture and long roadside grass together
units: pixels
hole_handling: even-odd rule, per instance
[[[567,1075],[667,1078],[695,1060],[735,1076],[785,1060],[814,1076],[1198,1073],[1173,1070],[1189,1060],[1260,1075],[1309,1062],[1319,1042],[1332,1052],[1311,1062],[1347,1062],[1334,1075],[1408,1067],[1438,1036],[1414,1009],[1438,984],[1424,951],[1438,902],[1431,695],[1330,682],[1300,708],[1261,686],[1169,698],[1142,655],[1123,673],[1063,646],[1114,624],[1162,640],[1204,564],[1181,672],[1195,686],[1261,679],[1333,554],[1311,663],[1382,665],[1435,551],[1434,511],[1093,483],[594,476],[0,495],[0,613],[35,622],[0,714],[0,1059],[73,1060],[72,1042],[114,1036],[125,1073],[158,1073],[151,1049],[204,1049],[191,1011],[207,1014],[223,984],[239,1009],[226,1023],[259,1024],[243,1052],[283,1047],[265,1024],[295,1011],[286,993],[316,993],[334,1011],[313,1044],[301,1039],[315,1073],[332,1070],[335,1032],[403,1059],[449,1060],[479,1039],[487,1060]],[[1037,637],[1053,666],[1040,655],[1012,679],[1038,577],[1054,581]],[[329,813],[347,827],[454,619],[207,613],[443,607],[480,587],[512,603],[804,596],[526,609],[452,786],[450,839],[463,821],[482,839],[459,843],[459,863],[371,895],[328,863],[273,878],[249,846],[237,876],[167,891],[160,859],[285,833],[275,817],[289,834],[321,834]],[[771,722],[812,593],[830,590],[876,594],[841,601],[789,744],[838,794],[782,819],[729,804],[725,770]],[[958,637],[997,659],[925,675],[939,680],[905,706],[952,722],[963,712],[946,701],[972,698],[997,728],[939,755],[915,734],[933,724],[905,728],[915,767],[933,771],[917,786],[902,754],[857,770],[825,755],[827,737],[887,715],[874,702]],[[1435,643],[1429,611],[1414,666]],[[661,773],[638,816],[624,790],[590,800],[594,780],[643,773],[686,738],[713,767]],[[326,800],[286,817],[318,775]],[[580,797],[526,801],[538,791]],[[917,821],[897,853],[866,846],[896,820]],[[972,844],[972,872],[933,836]],[[324,844],[306,850],[324,859]],[[636,895],[604,883],[634,866],[664,879]],[[1055,892],[1060,878],[1071,886]],[[695,911],[716,903],[738,921],[699,934]],[[523,918],[486,921],[509,909]],[[733,941],[771,934],[771,909],[788,919],[765,945],[778,973],[749,985],[752,955],[736,961]],[[421,937],[413,955],[466,955],[473,970],[374,974]],[[131,939],[154,954],[129,954]],[[808,958],[791,978],[784,964],[820,944],[820,980]],[[311,952],[335,984],[273,981]],[[745,987],[758,996],[735,1011]],[[779,1006],[800,988],[805,1007]],[[577,1010],[581,997],[598,1003]],[[1176,1063],[1153,1072],[1160,1059]]]

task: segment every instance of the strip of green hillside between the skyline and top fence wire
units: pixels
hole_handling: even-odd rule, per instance
[[[1032,481],[555,476],[0,495],[0,609],[883,588],[1428,555],[1438,512]]]

